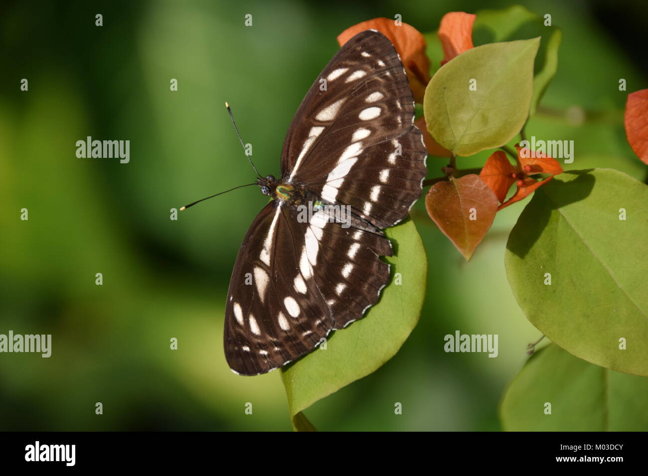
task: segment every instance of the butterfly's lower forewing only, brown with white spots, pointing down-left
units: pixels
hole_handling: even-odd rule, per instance
[[[305,232],[295,234],[292,219],[284,205],[269,203],[238,252],[224,334],[227,363],[238,374],[281,367],[310,352],[333,327],[314,280],[299,273]]]

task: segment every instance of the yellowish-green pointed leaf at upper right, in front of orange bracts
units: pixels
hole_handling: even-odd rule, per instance
[[[529,114],[539,38],[491,43],[443,65],[425,90],[428,131],[456,155],[472,155],[513,139]],[[476,80],[476,91],[470,81]]]

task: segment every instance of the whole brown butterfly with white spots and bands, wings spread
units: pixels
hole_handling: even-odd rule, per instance
[[[380,256],[392,255],[382,229],[408,216],[426,176],[414,114],[400,56],[376,30],[347,41],[310,87],[284,141],[281,177],[257,179],[272,200],[229,283],[233,372],[282,367],[376,304],[390,280]]]

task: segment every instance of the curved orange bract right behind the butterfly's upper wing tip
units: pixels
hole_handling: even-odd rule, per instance
[[[375,18],[349,27],[338,35],[340,46],[351,40],[354,35],[374,28],[393,43],[405,67],[410,89],[416,102],[423,102],[425,87],[430,82],[430,60],[425,52],[425,38],[416,28],[407,23],[396,25],[389,18]]]

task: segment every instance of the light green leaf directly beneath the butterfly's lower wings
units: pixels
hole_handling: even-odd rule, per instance
[[[428,261],[421,237],[410,219],[386,235],[394,251],[385,258],[392,265],[392,279],[378,304],[364,318],[330,334],[326,349],[318,348],[281,370],[296,430],[307,427],[301,411],[386,363],[419,321]],[[397,280],[395,273],[400,273]]]

